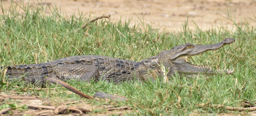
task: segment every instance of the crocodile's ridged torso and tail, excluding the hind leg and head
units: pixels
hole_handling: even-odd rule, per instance
[[[144,69],[141,67],[140,62],[127,61],[106,56],[81,55],[65,57],[40,64],[9,66],[6,75],[8,75],[10,79],[24,77],[22,79],[27,82],[41,84],[45,83],[44,78],[46,76],[56,78],[55,74],[58,73],[57,69],[59,69],[60,66],[68,69],[68,65],[65,67],[65,64],[94,66],[99,71],[99,77],[97,80],[113,80],[115,83],[120,83],[124,80],[131,80],[135,73],[142,74],[141,71]]]

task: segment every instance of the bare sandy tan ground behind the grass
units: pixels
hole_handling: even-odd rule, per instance
[[[6,8],[11,3],[10,0],[2,2]],[[14,2],[20,3],[20,0]],[[38,5],[34,0],[24,1],[25,4],[33,2]],[[86,16],[110,14],[114,22],[132,19],[132,26],[144,19],[144,25],[172,32],[180,31],[188,16],[188,25],[192,30],[196,25],[202,30],[221,25],[232,30],[233,22],[227,19],[225,13],[230,13],[237,23],[247,20],[256,26],[256,17],[253,16],[256,15],[255,0],[42,0],[42,3],[61,7],[63,15],[68,17],[73,13],[79,16],[79,12]]]

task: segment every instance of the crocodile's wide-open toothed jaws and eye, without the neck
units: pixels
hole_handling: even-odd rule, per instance
[[[199,55],[211,50],[218,50],[224,45],[231,44],[234,41],[235,40],[232,38],[226,38],[224,41],[211,45],[193,45],[190,43],[179,45],[173,48],[176,53],[171,55],[170,61],[172,62],[174,68],[179,73],[183,74],[232,74],[234,72],[233,69],[212,69],[210,66],[192,64],[188,62],[188,60],[191,56]]]

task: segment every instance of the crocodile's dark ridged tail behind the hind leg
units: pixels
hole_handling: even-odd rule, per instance
[[[21,78],[25,82],[41,85],[42,83],[45,83],[45,76],[51,77],[51,71],[51,66],[47,66],[46,63],[18,65],[9,66],[6,71],[6,75],[10,80]]]

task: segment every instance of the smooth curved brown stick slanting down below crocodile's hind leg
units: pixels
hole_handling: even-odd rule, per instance
[[[51,81],[51,82],[60,84],[61,86],[66,87],[68,90],[74,92],[74,93],[77,94],[77,95],[80,95],[80,96],[85,97],[85,98],[88,98],[88,99],[94,99],[92,96],[89,96],[89,95],[86,95],[86,94],[82,93],[81,91],[77,90],[76,88],[74,88],[74,87],[68,85],[67,83],[65,83],[65,82],[63,82],[63,81],[61,81],[61,80],[56,80],[56,79],[54,79],[54,78],[45,78],[45,79],[46,79],[46,80],[49,80],[49,81]]]

